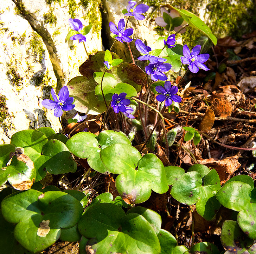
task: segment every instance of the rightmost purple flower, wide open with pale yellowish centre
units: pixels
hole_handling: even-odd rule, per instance
[[[197,45],[193,47],[193,49],[190,52],[190,49],[187,45],[183,46],[183,55],[180,57],[180,60],[183,64],[188,65],[188,69],[190,69],[191,72],[197,73],[200,69],[203,69],[204,71],[209,71],[210,69],[206,67],[206,65],[203,64],[203,62],[206,62],[209,59],[209,54],[200,54],[199,52],[201,50],[201,46]]]

